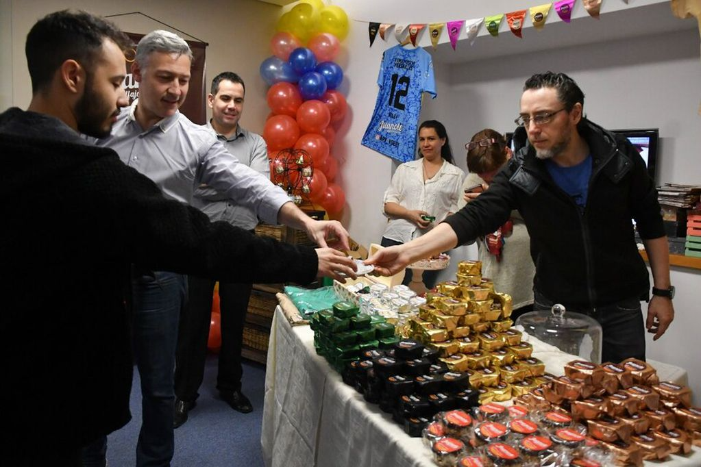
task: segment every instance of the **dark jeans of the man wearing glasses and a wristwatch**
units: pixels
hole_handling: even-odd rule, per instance
[[[557,303],[538,291],[533,291],[533,298],[533,309],[536,311],[550,310]],[[645,360],[645,325],[639,297],[626,298],[594,309],[570,308],[566,304],[565,307],[567,311],[591,316],[601,324],[604,333],[601,342],[602,363],[619,363],[630,357]]]

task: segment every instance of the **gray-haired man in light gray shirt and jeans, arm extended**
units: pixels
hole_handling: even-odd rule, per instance
[[[299,228],[320,246],[339,239],[348,249],[348,232],[334,221],[314,221],[264,175],[240,164],[217,136],[179,113],[190,81],[192,52],[186,41],[154,31],[139,41],[132,74],[139,99],[121,113],[109,146],[130,167],[148,176],[166,197],[191,204],[195,188],[206,184],[228,199],[253,209],[267,223]],[[325,273],[339,277],[335,265],[349,265],[344,253],[320,258]],[[245,267],[245,262],[241,265]],[[354,275],[354,274],[352,274]],[[132,277],[133,348],[142,385],[142,428],[137,466],[168,466],[174,452],[174,368],[179,314],[186,297],[186,277],[148,271],[135,265]]]

